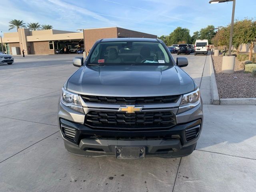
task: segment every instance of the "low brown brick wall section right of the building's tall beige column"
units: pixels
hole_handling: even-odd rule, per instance
[[[54,54],[54,50],[49,49],[49,41],[31,42],[31,54]]]

